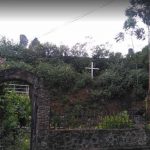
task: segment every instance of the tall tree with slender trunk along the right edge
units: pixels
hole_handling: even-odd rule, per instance
[[[150,95],[150,1],[148,0],[130,0],[131,6],[126,10],[126,16],[129,20],[134,20],[134,26],[132,24],[127,25],[125,22],[125,29],[135,28],[137,25],[137,19],[140,18],[142,22],[147,26],[148,29],[148,47],[149,47],[149,90]],[[135,30],[136,37],[139,39],[143,38],[144,29],[140,28]],[[150,97],[149,97],[150,98]]]

